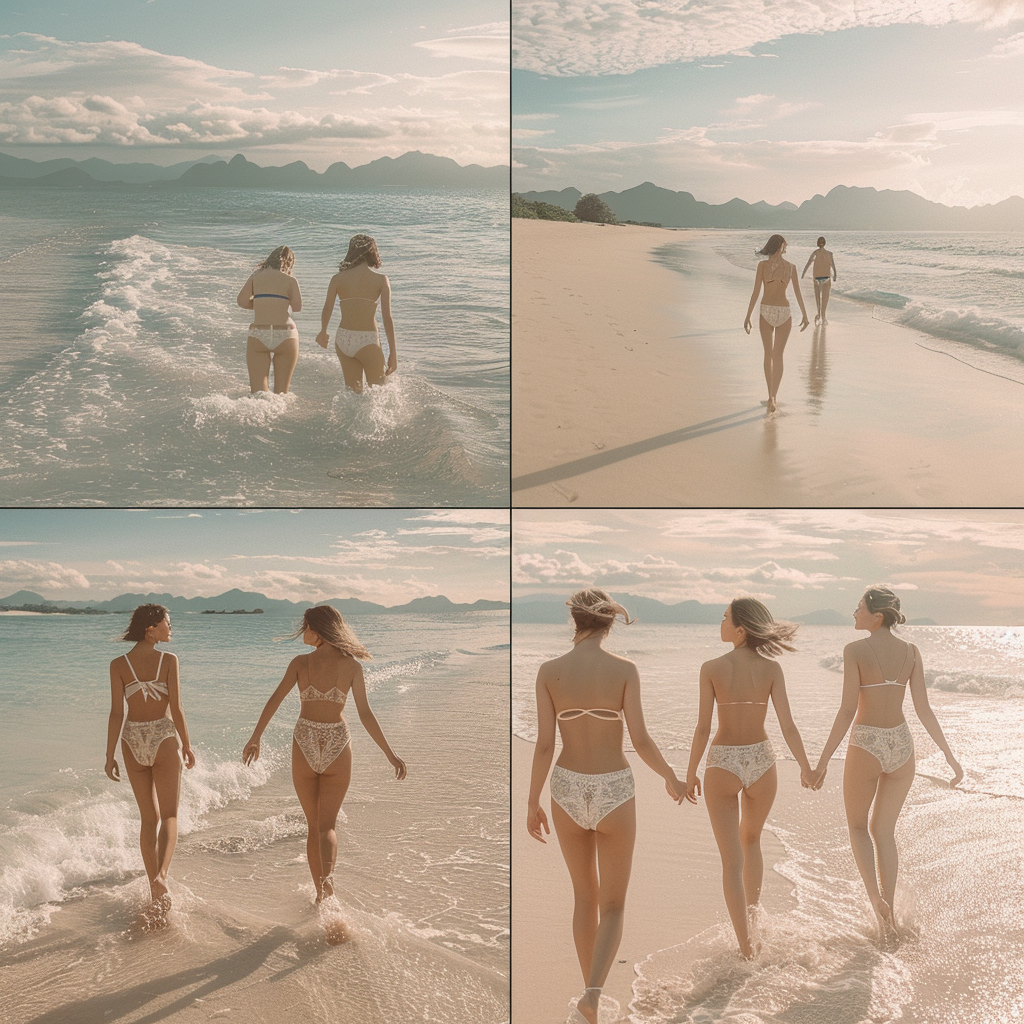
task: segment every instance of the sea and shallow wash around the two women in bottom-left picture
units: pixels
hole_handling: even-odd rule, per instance
[[[148,890],[131,791],[102,770],[106,665],[128,649],[114,639],[124,621],[0,615],[0,972],[28,993],[5,1020],[108,1019],[110,999],[156,971],[167,984],[125,1011],[155,1019],[182,994],[175,971],[205,977],[211,964],[252,956],[260,970],[249,982],[287,975],[303,1020],[393,1020],[394,992],[427,1000],[421,1019],[438,1024],[505,1021],[508,612],[352,616],[375,653],[365,665],[371,706],[409,777],[395,781],[350,708],[335,878],[355,940],[338,947],[317,927],[291,783],[296,695],[264,733],[259,762],[241,763],[263,703],[305,649],[274,642],[294,624],[270,613],[175,616],[168,649],[180,659],[198,763],[183,772],[171,927],[126,940]]]

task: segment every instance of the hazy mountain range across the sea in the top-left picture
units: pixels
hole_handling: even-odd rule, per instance
[[[0,188],[274,188],[285,191],[353,191],[364,188],[509,187],[510,168],[462,166],[429,153],[381,157],[358,167],[332,164],[323,174],[301,160],[260,167],[242,154],[161,167],[69,158],[38,162],[0,153]]]

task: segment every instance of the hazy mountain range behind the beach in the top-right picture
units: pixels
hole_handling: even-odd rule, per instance
[[[546,216],[544,207],[571,213],[583,194],[561,191],[514,194],[513,216]],[[837,185],[827,196],[815,196],[800,206],[793,203],[745,203],[739,199],[715,206],[690,193],[672,191],[645,181],[621,193],[600,198],[622,221],[656,223],[665,227],[743,227],[762,230],[809,231],[1022,231],[1024,199],[1012,196],[991,206],[943,206],[911,191],[852,188]],[[559,218],[561,219],[561,218]],[[565,218],[571,219],[571,218]]]

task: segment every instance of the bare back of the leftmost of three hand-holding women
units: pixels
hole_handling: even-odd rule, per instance
[[[551,697],[556,719],[562,712],[603,710],[623,712],[627,685],[637,678],[636,666],[628,658],[601,647],[578,646],[541,667],[540,683]],[[624,724],[621,718],[580,715],[558,720],[562,751],[556,764],[587,774],[628,768],[623,753]]]

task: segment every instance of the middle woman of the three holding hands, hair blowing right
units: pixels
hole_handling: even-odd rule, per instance
[[[765,732],[769,697],[786,745],[800,765],[801,782],[805,786],[811,782],[811,766],[790,713],[782,667],[772,659],[796,649],[788,643],[796,632],[792,623],[776,623],[760,601],[737,597],[722,617],[722,640],[731,643],[732,650],[700,666],[700,705],[686,769],[686,796],[695,803],[700,795],[697,767],[717,702],[718,732],[708,752],[703,796],[722,855],[725,905],[745,959],[757,953],[751,914],[761,899],[764,876],[761,829],[778,785],[775,752]]]

